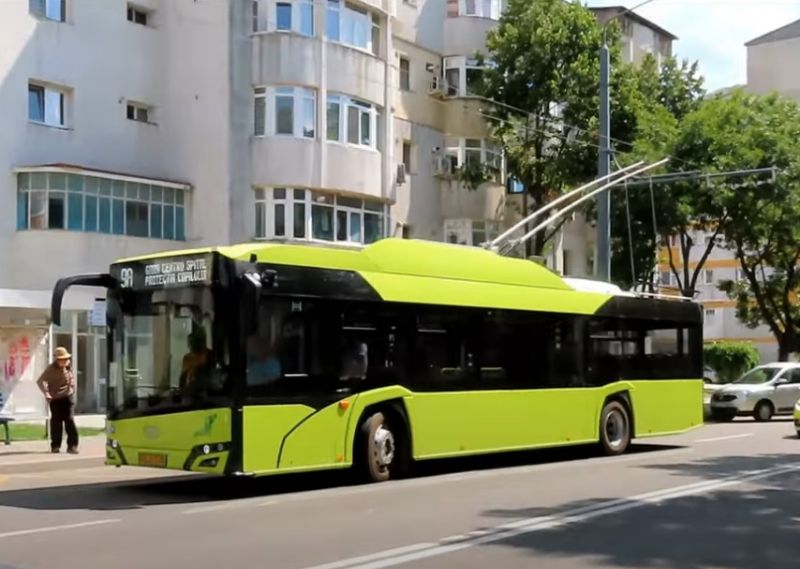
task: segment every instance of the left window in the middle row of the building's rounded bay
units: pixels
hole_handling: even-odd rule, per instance
[[[267,109],[271,112],[267,112]],[[301,87],[258,88],[254,94],[254,133],[314,138],[317,94]]]

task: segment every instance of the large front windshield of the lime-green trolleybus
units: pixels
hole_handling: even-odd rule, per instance
[[[112,412],[191,407],[224,397],[228,344],[209,287],[126,293],[115,324]]]

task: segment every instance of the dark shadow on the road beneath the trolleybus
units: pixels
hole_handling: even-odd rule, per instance
[[[680,448],[636,444],[629,453],[656,453]],[[542,451],[496,454],[476,458],[419,463],[413,477],[434,477],[457,472],[585,460],[598,456],[596,447],[569,447]],[[198,504],[259,496],[277,496],[361,484],[347,471],[268,476],[258,479],[226,479],[181,476],[157,480],[79,484],[0,492],[0,507],[32,510],[134,510],[165,504]]]

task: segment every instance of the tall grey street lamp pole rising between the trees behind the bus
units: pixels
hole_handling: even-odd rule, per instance
[[[611,22],[649,4],[654,0],[645,0],[622,12],[615,14],[603,24],[603,45],[600,46],[600,141],[597,155],[597,176],[608,176],[611,169],[611,93],[610,73],[611,61],[608,51],[606,32]],[[611,280],[611,196],[603,192],[597,198],[597,261],[596,276],[599,280]]]

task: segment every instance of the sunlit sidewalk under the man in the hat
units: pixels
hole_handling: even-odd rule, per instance
[[[80,454],[71,455],[62,449],[60,454],[50,453],[50,442],[20,441],[10,446],[0,444],[0,474],[43,472],[74,468],[102,466],[106,455],[104,436],[83,437]]]

